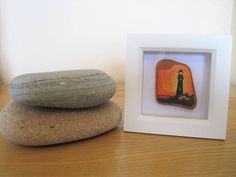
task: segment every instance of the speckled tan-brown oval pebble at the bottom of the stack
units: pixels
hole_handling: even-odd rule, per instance
[[[51,145],[99,135],[116,127],[121,117],[112,101],[84,109],[40,108],[11,101],[0,113],[0,132],[15,144]]]

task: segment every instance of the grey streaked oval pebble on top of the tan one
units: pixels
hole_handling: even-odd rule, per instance
[[[108,101],[115,81],[100,70],[23,74],[11,80],[9,91],[19,103],[57,108],[84,108]]]

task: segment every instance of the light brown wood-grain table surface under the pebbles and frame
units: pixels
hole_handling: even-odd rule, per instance
[[[0,86],[0,108],[10,97]],[[124,85],[113,100],[123,109]],[[236,87],[231,86],[226,141],[123,132],[47,147],[14,145],[0,135],[0,177],[236,176]]]

